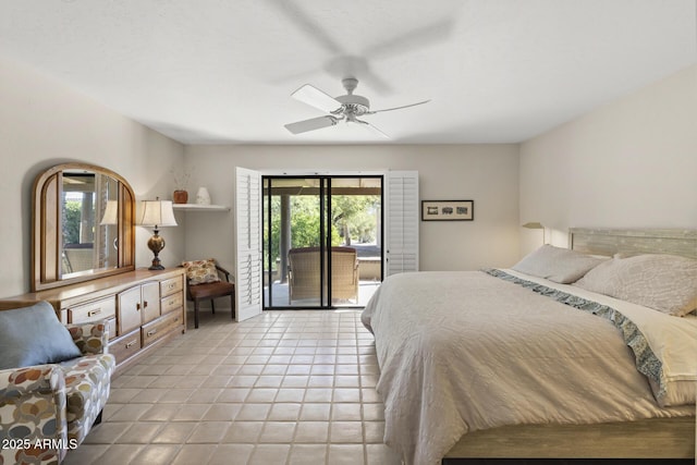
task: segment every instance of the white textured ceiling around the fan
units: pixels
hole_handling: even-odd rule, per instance
[[[519,142],[697,62],[696,0],[0,0],[0,56],[187,144]],[[341,78],[360,125],[292,135]]]

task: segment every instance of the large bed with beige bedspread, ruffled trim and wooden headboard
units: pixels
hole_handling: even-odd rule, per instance
[[[552,250],[573,255],[561,271],[557,257],[537,257],[514,269],[402,273],[366,305],[384,440],[406,465],[694,457],[697,231],[573,229],[570,243]],[[616,267],[663,258],[687,267],[687,284],[668,283],[680,292],[617,298],[627,280]],[[677,297],[682,307],[665,307]]]

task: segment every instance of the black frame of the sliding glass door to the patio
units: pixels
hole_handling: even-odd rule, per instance
[[[268,233],[268,238],[264,241],[262,249],[271,249],[271,241],[272,241],[272,182],[273,180],[279,179],[316,179],[319,180],[319,260],[320,260],[320,289],[319,289],[319,305],[310,306],[303,305],[301,307],[293,305],[273,305],[273,257],[271,254],[268,254],[267,262],[262,264],[262,273],[265,276],[268,274],[268,293],[264,293],[262,298],[262,308],[265,310],[292,310],[292,309],[338,309],[338,308],[363,308],[363,306],[357,302],[355,305],[332,305],[332,290],[331,290],[331,254],[325,254],[327,249],[331,249],[331,231],[332,223],[330,221],[331,216],[331,203],[332,203],[332,179],[378,179],[380,180],[380,228],[378,231],[378,236],[380,244],[384,244],[384,174],[379,173],[341,173],[341,174],[331,174],[331,173],[313,173],[313,174],[303,174],[303,173],[282,173],[282,174],[262,174],[261,176],[261,216],[264,220],[261,221],[261,236],[264,237],[265,233]],[[376,237],[378,238],[378,237]],[[384,279],[384,247],[380,246],[380,282]],[[323,272],[327,270],[327,272]],[[281,270],[279,270],[281,272]],[[326,285],[325,285],[326,282]],[[326,292],[325,292],[326,291]]]

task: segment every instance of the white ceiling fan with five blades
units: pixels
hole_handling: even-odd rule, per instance
[[[404,105],[402,107],[386,108],[383,110],[370,110],[370,100],[353,93],[358,85],[358,79],[356,79],[355,77],[346,77],[342,79],[341,83],[346,89],[346,95],[342,95],[335,98],[309,84],[305,84],[303,87],[291,94],[291,97],[294,97],[297,100],[309,106],[318,108],[329,114],[285,124],[285,129],[293,134],[301,134],[308,131],[333,126],[340,121],[345,121],[346,123],[358,123],[365,125],[376,134],[389,138],[387,134],[377,129],[375,125],[368,123],[367,121],[359,120],[358,118],[368,114],[380,113],[383,111],[416,107],[417,105],[423,105],[430,101],[424,100],[416,103]]]

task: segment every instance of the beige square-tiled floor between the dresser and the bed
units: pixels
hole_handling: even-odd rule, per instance
[[[203,313],[113,379],[101,425],[64,463],[399,465],[377,375],[359,310]]]

